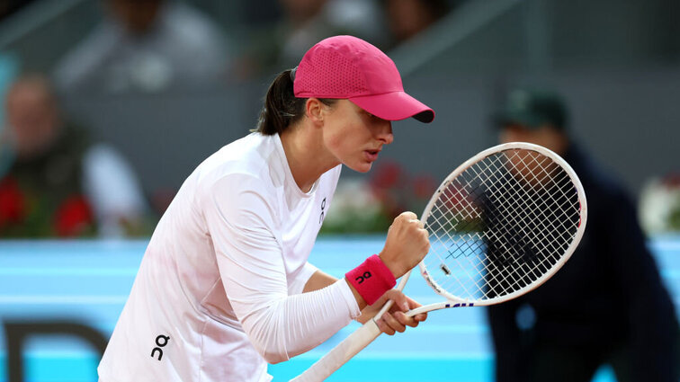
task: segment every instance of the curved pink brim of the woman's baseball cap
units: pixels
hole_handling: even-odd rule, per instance
[[[425,123],[434,120],[432,109],[404,92],[350,97],[349,100],[383,120],[406,120],[409,117]]]

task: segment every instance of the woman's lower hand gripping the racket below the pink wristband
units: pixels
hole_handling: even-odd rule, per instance
[[[426,313],[408,317],[405,312],[421,306],[416,301],[408,298],[398,289],[389,289],[382,297],[371,306],[366,306],[362,310],[362,315],[356,318],[362,324],[366,324],[368,320],[377,315],[380,308],[385,305],[387,300],[394,301],[389,311],[385,312],[380,319],[376,320],[376,324],[382,333],[393,335],[394,333],[403,333],[407,326],[416,327],[427,318]]]

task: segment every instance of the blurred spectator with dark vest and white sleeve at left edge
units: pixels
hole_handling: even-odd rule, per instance
[[[147,203],[129,165],[62,118],[43,76],[15,81],[5,107],[0,237],[146,233]]]

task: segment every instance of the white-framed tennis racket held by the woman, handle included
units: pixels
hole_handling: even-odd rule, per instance
[[[581,182],[559,155],[523,142],[480,152],[442,182],[421,217],[430,251],[420,273],[445,300],[407,315],[494,305],[537,288],[574,252],[586,217]],[[399,290],[409,275],[401,278]],[[333,374],[380,335],[375,320],[391,304],[291,381]]]

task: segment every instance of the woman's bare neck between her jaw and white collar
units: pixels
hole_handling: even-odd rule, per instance
[[[300,123],[281,133],[283,151],[293,179],[303,192],[309,192],[322,173],[340,164],[323,145],[320,129]]]

